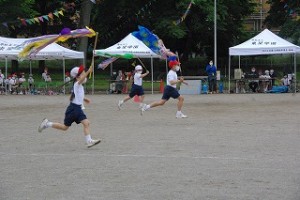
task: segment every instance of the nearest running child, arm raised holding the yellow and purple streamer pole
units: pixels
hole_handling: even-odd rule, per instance
[[[84,97],[84,84],[87,80],[89,73],[93,71],[93,66],[91,66],[87,72],[84,71],[84,67],[74,67],[71,70],[71,76],[74,78],[73,93],[70,97],[70,104],[65,112],[64,124],[50,122],[48,119],[44,119],[38,128],[39,132],[44,129],[52,127],[58,130],[66,131],[71,126],[73,122],[77,124],[81,123],[83,125],[83,132],[85,135],[85,141],[88,148],[99,144],[101,140],[93,140],[90,135],[90,122],[86,115],[82,111],[81,106],[83,102],[90,103],[88,98]]]

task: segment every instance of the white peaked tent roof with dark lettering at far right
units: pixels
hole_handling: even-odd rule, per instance
[[[270,55],[297,52],[300,52],[299,46],[282,39],[268,29],[246,42],[229,48],[229,55]]]

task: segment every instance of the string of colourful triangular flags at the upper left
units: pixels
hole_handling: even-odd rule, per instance
[[[21,26],[40,24],[44,21],[53,20],[55,17],[60,18],[60,16],[64,16],[63,10],[50,12],[47,15],[41,15],[41,16],[34,17],[34,18],[27,18],[27,19],[19,18],[18,20],[15,20],[12,22],[3,22],[2,25],[5,26],[6,28],[11,27],[12,29],[15,29],[16,27],[20,28]]]

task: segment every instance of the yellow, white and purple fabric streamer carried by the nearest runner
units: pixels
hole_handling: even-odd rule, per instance
[[[23,59],[32,55],[37,54],[40,50],[45,48],[51,43],[54,42],[65,42],[69,38],[77,38],[77,37],[93,37],[96,35],[96,32],[93,29],[86,27],[85,29],[76,29],[71,30],[69,28],[64,28],[57,35],[44,35],[41,37],[33,38],[32,40],[27,40],[20,46],[24,47],[23,50],[19,53],[19,58]]]

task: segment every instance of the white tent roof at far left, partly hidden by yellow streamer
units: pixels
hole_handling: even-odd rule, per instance
[[[9,59],[17,60],[22,48],[14,48],[32,38],[6,38],[0,37],[0,60]],[[38,52],[36,55],[26,58],[25,60],[57,60],[57,59],[83,59],[84,53],[73,51],[52,43]]]

